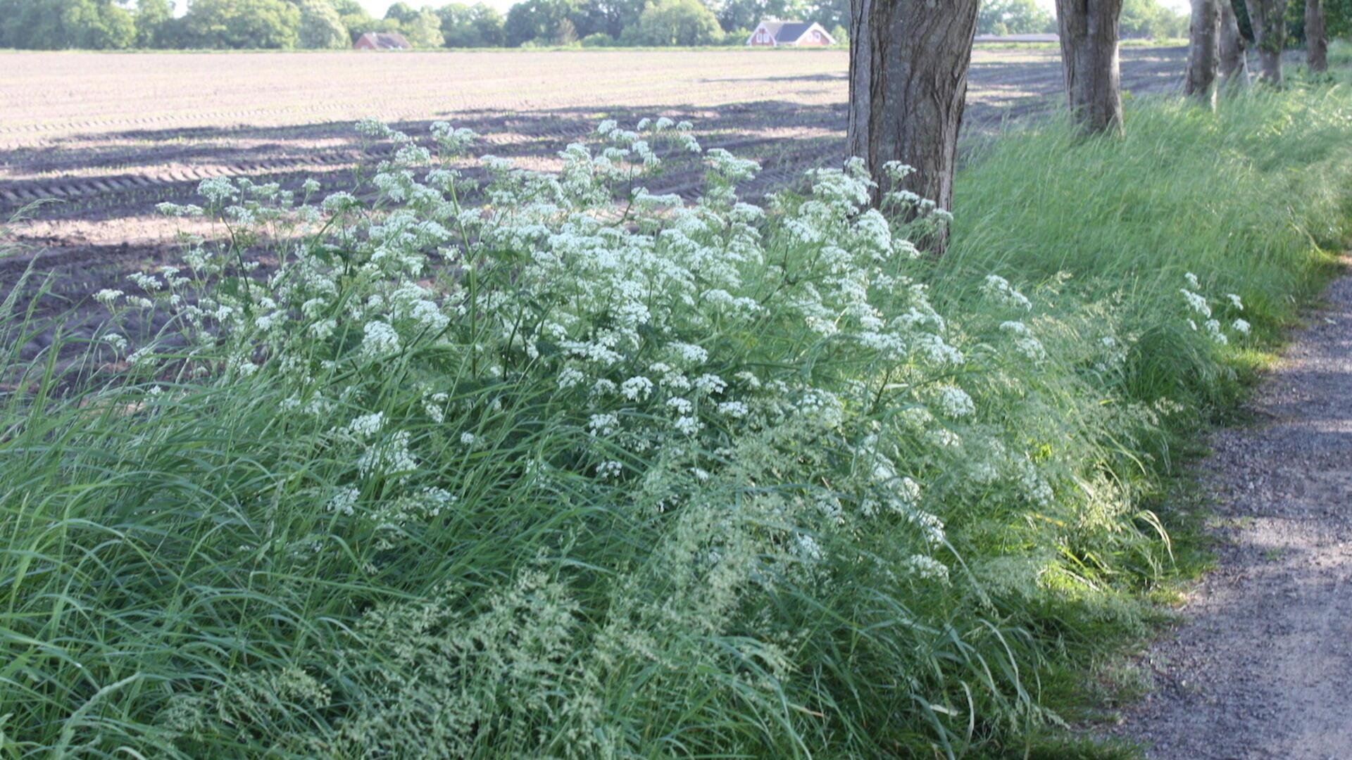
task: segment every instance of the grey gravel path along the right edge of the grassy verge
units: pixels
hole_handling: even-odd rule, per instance
[[[1148,652],[1156,691],[1122,726],[1148,757],[1352,757],[1352,276],[1251,406],[1202,465],[1218,569]]]

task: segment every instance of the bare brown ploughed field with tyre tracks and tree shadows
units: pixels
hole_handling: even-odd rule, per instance
[[[1124,87],[1178,88],[1184,60],[1184,49],[1124,49]],[[838,165],[845,145],[842,50],[0,53],[0,224],[45,201],[9,226],[23,253],[0,258],[0,292],[41,257],[51,279],[38,314],[70,312],[76,335],[105,318],[91,293],[177,258],[181,220],[157,203],[200,201],[197,184],[220,176],[349,189],[389,150],[362,145],[353,126],[368,116],[412,135],[448,120],[483,135],[477,154],[537,169],[556,168],[602,119],[688,119],[706,149],[761,162],[744,188],[753,199]],[[1053,107],[1061,89],[1055,50],[977,50],[968,143]],[[673,162],[649,189],[692,197],[702,176],[695,161]]]

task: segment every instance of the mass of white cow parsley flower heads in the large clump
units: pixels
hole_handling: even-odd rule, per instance
[[[462,362],[476,381],[539,376],[553,384],[554,396],[568,399],[588,438],[671,457],[688,472],[717,471],[718,461],[699,452],[726,449],[761,430],[780,427],[802,440],[830,431],[842,446],[867,448],[877,460],[875,473],[898,473],[883,496],[875,477],[853,485],[852,498],[865,507],[860,514],[883,498],[904,506],[884,513],[904,514],[921,545],[941,541],[941,522],[915,506],[921,473],[899,475],[907,469],[906,454],[884,453],[876,444],[879,421],[868,408],[886,398],[933,406],[950,422],[977,414],[967,391],[940,380],[968,357],[910,270],[918,253],[911,235],[946,224],[945,212],[904,193],[888,197],[909,208],[911,222],[871,208],[876,187],[861,161],[815,170],[804,197],[777,196],[769,210],[760,208],[735,191],[760,166],[710,150],[708,191],[698,203],[631,189],[617,223],[612,210],[625,199],[619,188],[641,187],[635,180],[661,165],[661,150],[699,151],[691,126],[671,119],[645,120],[634,130],[603,122],[603,147],[568,146],[553,174],[484,157],[488,181],[480,192],[487,206],[466,208],[457,195],[458,169],[426,166],[461,156],[477,135],[435,123],[429,147],[379,122],[361,122],[358,131],[395,146],[393,158],[369,179],[379,199],[373,207],[353,192],[310,206],[318,188],[306,188],[307,203],[299,207],[279,188],[242,180],[208,180],[200,188],[210,214],[247,227],[230,211],[238,207],[254,224],[281,220],[300,233],[264,281],[183,307],[203,348],[233,346],[237,369],[260,366],[239,358],[249,356],[289,368],[300,387],[288,408],[314,414],[319,407],[300,399],[365,392],[369,372],[353,373],[357,366],[439,353],[438,362]],[[890,172],[899,180],[906,169]],[[767,224],[771,215],[775,224]],[[230,268],[226,252],[203,246],[185,261],[197,277]],[[448,276],[429,281],[437,268]],[[165,277],[170,288],[181,280],[177,272]],[[149,275],[134,281],[147,292],[164,287]],[[1032,308],[998,276],[986,291],[1003,306]],[[100,298],[116,300],[112,293]],[[779,330],[829,338],[840,346],[833,350],[872,369],[845,385],[794,369],[808,361],[808,346],[795,349],[808,353],[783,356],[784,371],[748,362],[765,314],[779,315]],[[1023,322],[1002,329],[1019,354],[1045,358]],[[349,379],[347,385],[326,387],[333,377]],[[450,425],[453,414],[464,414],[426,383],[416,395],[412,408],[423,419]],[[407,477],[420,458],[435,456],[419,454],[410,431],[383,412],[358,415],[343,430],[365,446],[358,477]],[[961,442],[946,427],[923,437],[938,448]],[[461,446],[484,445],[476,434],[458,438]],[[799,444],[783,445],[791,450]],[[606,448],[585,446],[577,456],[589,461],[588,472],[608,480],[631,471],[617,468]],[[840,488],[849,496],[848,480]]]

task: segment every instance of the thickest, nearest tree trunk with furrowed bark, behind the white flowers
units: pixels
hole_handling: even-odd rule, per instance
[[[953,204],[957,130],[967,101],[979,0],[854,0],[850,4],[849,151],[879,192]],[[892,187],[884,165],[915,170]],[[945,241],[936,241],[942,247]]]

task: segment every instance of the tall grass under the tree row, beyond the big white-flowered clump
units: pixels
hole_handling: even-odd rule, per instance
[[[1121,139],[1080,139],[1064,122],[980,149],[957,184],[942,277],[979,272],[1072,277],[1076,298],[1111,299],[1145,343],[1137,398],[1167,395],[1203,414],[1240,389],[1232,369],[1178,345],[1160,315],[1194,272],[1238,293],[1265,341],[1290,326],[1347,242],[1352,146],[1349,93],[1294,84],[1222,97],[1215,112],[1184,100],[1128,110]]]

